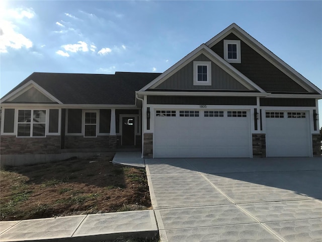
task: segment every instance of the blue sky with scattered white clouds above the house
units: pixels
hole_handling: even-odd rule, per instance
[[[322,1],[2,1],[0,21],[0,96],[33,72],[164,72],[233,22],[322,89]]]

